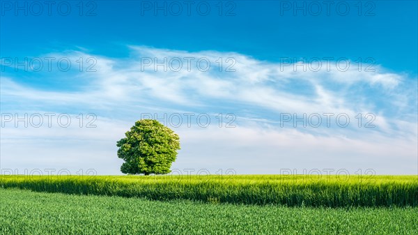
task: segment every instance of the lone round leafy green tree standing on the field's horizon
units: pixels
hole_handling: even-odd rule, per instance
[[[167,126],[152,119],[142,119],[125,132],[116,143],[118,158],[125,160],[125,174],[167,174],[180,149],[180,138]]]

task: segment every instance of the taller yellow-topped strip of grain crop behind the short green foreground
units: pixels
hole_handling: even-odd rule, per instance
[[[1,176],[0,188],[286,206],[418,206],[418,176]]]

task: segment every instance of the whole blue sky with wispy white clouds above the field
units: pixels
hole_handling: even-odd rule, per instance
[[[50,13],[40,3],[42,12],[20,1],[25,15],[1,1],[2,169],[120,174],[116,141],[141,115],[166,113],[194,114],[190,127],[169,126],[182,142],[176,169],[418,173],[417,1],[331,1],[328,12],[322,1],[191,1],[189,12],[183,1],[56,1]],[[17,66],[25,58],[35,69]],[[46,58],[55,59],[50,71]],[[65,71],[56,67],[63,58]],[[154,58],[173,63],[155,71]],[[72,123],[5,121],[46,113]],[[199,114],[210,116],[207,127]],[[293,114],[323,123],[295,127]],[[339,114],[348,126],[336,125]]]

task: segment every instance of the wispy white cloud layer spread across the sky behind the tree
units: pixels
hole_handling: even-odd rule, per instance
[[[282,68],[234,52],[129,48],[132,54],[123,59],[84,52],[49,54],[97,60],[93,73],[54,73],[56,78],[73,76],[77,84],[73,91],[36,88],[18,82],[18,74],[1,77],[2,113],[98,114],[98,128],[93,129],[2,128],[2,168],[68,164],[116,174],[120,165],[116,140],[141,113],[231,112],[238,116],[237,128],[213,128],[214,120],[210,128],[175,129],[183,149],[174,167],[235,167],[242,173],[278,173],[275,169],[281,165],[417,172],[417,108],[410,105],[416,106],[417,94],[405,74],[387,73],[382,66],[374,73],[359,72],[355,66],[345,72],[325,68],[295,72],[293,65]],[[190,71],[185,63],[178,72],[164,72],[162,67],[155,72],[153,66],[141,71],[144,56],[159,61],[206,58],[211,68],[201,72],[194,62]],[[235,72],[225,72],[234,63]],[[325,112],[348,114],[352,128],[279,127],[280,113]],[[356,128],[359,112],[376,114],[376,128]]]

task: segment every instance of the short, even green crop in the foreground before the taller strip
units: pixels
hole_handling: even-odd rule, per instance
[[[0,234],[416,234],[417,207],[168,202],[0,189]]]

